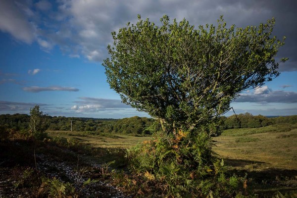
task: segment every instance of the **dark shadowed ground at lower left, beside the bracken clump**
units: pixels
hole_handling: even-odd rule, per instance
[[[67,143],[62,140],[53,142],[52,140],[0,139],[0,198],[46,198],[49,191],[44,186],[44,181],[57,181],[56,178],[60,183],[49,185],[61,184],[61,188],[55,187],[59,188],[58,190],[62,189],[61,191],[64,191],[65,185],[70,184],[73,187],[70,194],[67,191],[68,194],[62,197],[78,195],[82,198],[88,197],[90,187],[92,189],[90,192],[93,192],[90,197],[95,197],[96,192],[103,192],[101,198],[114,197],[117,191],[110,189],[104,183],[89,185],[86,191],[81,191],[84,187],[74,189],[74,186],[78,185],[77,178],[81,180],[83,176],[92,180],[107,181],[110,177],[108,165],[111,161],[117,160],[112,163],[115,167],[126,163],[125,150],[92,148],[85,144]],[[88,157],[92,161],[88,161]],[[96,162],[96,164],[87,162]],[[69,177],[70,173],[73,174],[72,177]],[[40,192],[44,194],[41,195]]]

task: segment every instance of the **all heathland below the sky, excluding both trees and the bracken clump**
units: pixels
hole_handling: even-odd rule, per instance
[[[130,149],[159,129],[151,118],[50,117],[36,140],[23,114],[0,116],[0,197],[156,197],[153,176],[128,173]],[[72,120],[72,131],[71,131]],[[64,127],[64,128],[63,128]],[[297,196],[297,116],[223,117],[213,150],[250,197]],[[150,178],[151,177],[151,178]]]

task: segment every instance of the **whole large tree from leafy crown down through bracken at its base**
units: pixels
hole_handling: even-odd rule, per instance
[[[238,181],[225,179],[211,135],[240,92],[279,75],[275,56],[284,42],[271,37],[275,20],[235,29],[221,17],[217,27],[195,29],[166,15],[160,27],[138,19],[112,32],[102,64],[122,101],[162,125],[155,140],[129,151],[130,170],[157,179],[166,197],[229,197]]]

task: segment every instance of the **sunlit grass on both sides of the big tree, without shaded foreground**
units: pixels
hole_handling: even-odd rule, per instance
[[[51,137],[72,138],[95,148],[131,148],[149,140],[123,134],[92,135],[75,131],[47,131]],[[261,128],[228,129],[213,138],[221,157],[237,159],[237,168],[281,168],[297,170],[297,124]],[[246,161],[246,162],[245,162]]]

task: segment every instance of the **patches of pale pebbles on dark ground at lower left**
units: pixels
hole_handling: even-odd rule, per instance
[[[86,174],[90,174],[91,172],[77,172],[76,164],[70,166],[65,162],[58,162],[45,154],[36,154],[36,163],[37,169],[48,178],[58,178],[60,180],[63,178],[64,182],[70,181],[70,183],[74,184],[77,191],[80,191],[80,197],[130,198],[124,196],[120,190],[104,181],[92,183],[90,188],[82,188],[83,183],[89,179]],[[100,164],[95,162],[90,162],[89,165],[93,168],[100,167]],[[0,198],[30,197],[30,192],[16,191],[13,187],[13,182],[14,181],[11,181],[11,179],[3,178],[3,180],[1,180],[0,178],[1,186],[5,186],[5,188],[0,188]]]

